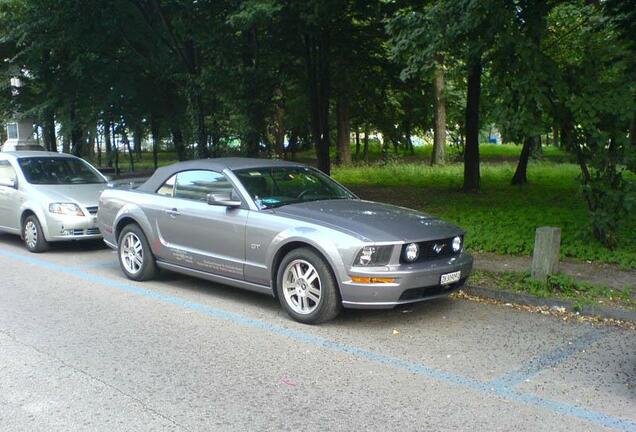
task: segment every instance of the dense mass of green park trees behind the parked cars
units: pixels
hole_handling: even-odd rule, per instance
[[[166,147],[181,160],[313,147],[327,173],[351,163],[352,133],[380,134],[387,154],[433,134],[433,163],[448,136],[467,192],[480,190],[483,130],[523,145],[514,184],[550,136],[576,157],[611,245],[636,167],[628,3],[4,0],[0,111],[33,117],[49,149],[104,151],[103,164],[115,135],[137,152],[151,136],[155,161]]]

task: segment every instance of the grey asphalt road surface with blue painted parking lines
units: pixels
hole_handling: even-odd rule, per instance
[[[0,235],[2,431],[636,431],[636,332],[442,299],[305,326]]]

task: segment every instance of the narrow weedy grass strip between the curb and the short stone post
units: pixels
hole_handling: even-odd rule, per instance
[[[636,309],[631,299],[631,291],[616,290],[601,285],[577,282],[572,277],[556,274],[544,282],[530,278],[528,273],[492,273],[475,271],[471,275],[471,284],[496,287],[507,291],[527,292],[541,298],[561,298],[575,300],[575,307],[592,304],[610,304],[628,309]]]

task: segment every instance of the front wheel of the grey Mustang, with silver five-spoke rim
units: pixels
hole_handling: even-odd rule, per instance
[[[329,264],[309,248],[285,255],[278,267],[276,293],[289,316],[305,324],[332,320],[342,309]]]

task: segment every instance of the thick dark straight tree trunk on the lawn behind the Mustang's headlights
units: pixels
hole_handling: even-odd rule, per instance
[[[479,99],[481,96],[481,57],[474,58],[469,63],[468,90],[466,96],[464,192],[479,192]]]

